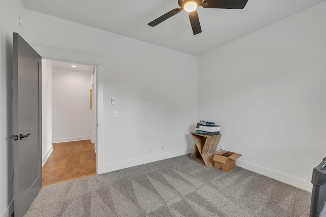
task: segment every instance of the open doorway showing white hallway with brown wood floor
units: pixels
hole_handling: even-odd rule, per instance
[[[96,174],[96,66],[42,59],[42,183]]]

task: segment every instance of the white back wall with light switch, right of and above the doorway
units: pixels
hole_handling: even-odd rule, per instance
[[[197,121],[196,56],[34,11],[25,13],[30,43],[104,57],[105,137],[98,146],[99,173],[191,151],[189,132]],[[111,105],[112,97],[116,105]],[[113,110],[119,117],[112,117]]]

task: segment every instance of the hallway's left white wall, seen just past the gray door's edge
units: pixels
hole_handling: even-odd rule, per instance
[[[52,61],[42,59],[42,166],[52,152]]]

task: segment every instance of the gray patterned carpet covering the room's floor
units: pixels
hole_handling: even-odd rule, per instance
[[[42,188],[24,216],[309,216],[311,194],[189,155]]]

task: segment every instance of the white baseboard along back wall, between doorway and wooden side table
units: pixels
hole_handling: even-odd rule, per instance
[[[187,148],[183,150],[177,150],[177,151],[171,151],[171,152],[166,152],[162,154],[156,154],[153,156],[148,156],[145,158],[138,158],[138,159],[132,159],[130,161],[124,161],[124,162],[118,162],[114,164],[107,164],[102,167],[98,166],[97,174],[102,174],[102,173],[107,173],[107,172],[112,172],[115,170],[120,170],[128,167],[133,167],[133,166],[138,166],[142,164],[147,164],[155,161],[160,161],[160,160],[165,160],[169,158],[174,158],[178,156],[182,156],[187,153],[191,153],[193,151],[193,148]]]

